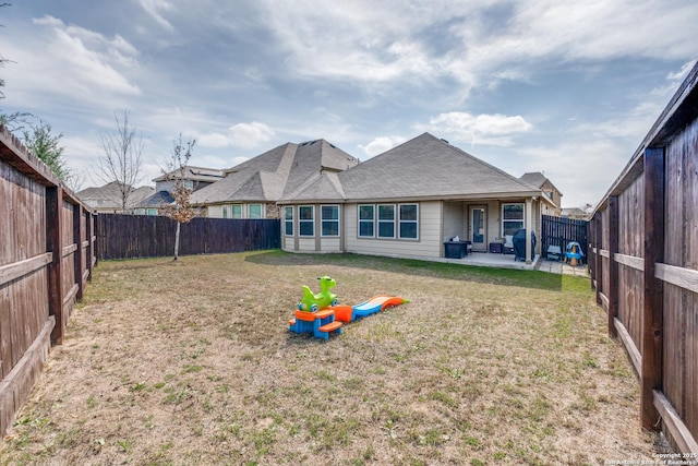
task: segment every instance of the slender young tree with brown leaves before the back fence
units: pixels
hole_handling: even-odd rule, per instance
[[[198,214],[198,210],[189,204],[189,199],[193,190],[185,183],[186,166],[192,157],[196,140],[190,139],[186,143],[182,143],[182,134],[179,140],[173,142],[172,154],[163,169],[164,175],[170,181],[174,181],[172,187],[172,199],[170,204],[164,204],[159,211],[163,215],[167,215],[177,222],[177,231],[174,232],[174,259],[179,258],[179,232],[182,224],[191,222]]]

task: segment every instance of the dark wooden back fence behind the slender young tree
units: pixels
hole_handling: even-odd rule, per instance
[[[100,260],[157,258],[174,253],[174,220],[161,216],[100,214],[95,220]],[[279,249],[279,219],[194,218],[182,224],[180,254]]]

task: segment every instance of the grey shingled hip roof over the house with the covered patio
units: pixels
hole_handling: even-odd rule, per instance
[[[424,133],[337,175],[349,201],[376,199],[458,199],[537,195],[540,190]],[[308,199],[323,199],[311,188]],[[287,201],[296,199],[287,198]]]

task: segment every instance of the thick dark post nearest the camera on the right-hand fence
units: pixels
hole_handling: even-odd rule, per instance
[[[664,147],[645,151],[645,290],[642,309],[642,366],[640,372],[640,422],[658,430],[660,415],[653,390],[662,390],[662,333],[664,288],[654,277],[664,260]]]

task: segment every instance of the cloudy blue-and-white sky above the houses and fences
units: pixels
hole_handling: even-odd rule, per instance
[[[695,0],[15,0],[3,112],[94,177],[129,111],[143,183],[172,141],[227,168],[325,139],[365,160],[429,131],[564,206],[598,202],[698,58]]]

